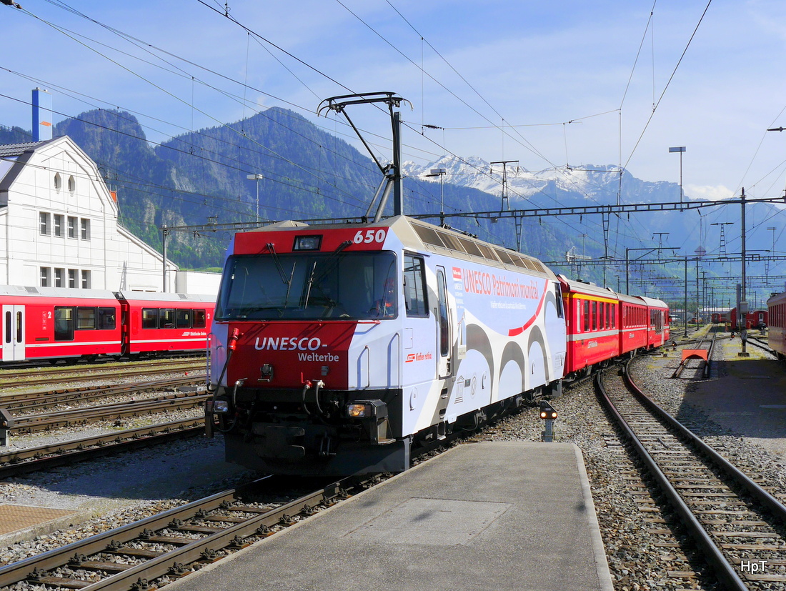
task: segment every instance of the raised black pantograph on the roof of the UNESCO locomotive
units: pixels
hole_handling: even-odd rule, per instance
[[[376,163],[376,167],[378,167],[380,172],[383,174],[383,180],[380,183],[380,188],[376,190],[373,200],[371,200],[371,203],[369,204],[369,209],[365,212],[364,216],[365,218],[368,218],[371,209],[376,202],[376,198],[380,194],[382,185],[384,184],[384,193],[382,193],[380,204],[376,208],[374,222],[379,222],[382,218],[382,212],[384,211],[385,204],[387,204],[387,197],[390,195],[391,189],[393,189],[393,215],[404,215],[404,192],[402,190],[401,175],[401,114],[399,111],[393,110],[394,107],[399,108],[402,101],[406,101],[406,99],[391,92],[343,94],[340,97],[326,98],[319,104],[319,107],[317,108],[318,116],[325,109],[342,113],[343,116],[347,118],[347,122],[351,125],[354,133],[357,134],[358,138],[360,138],[360,141],[362,141],[365,149],[369,151],[372,160],[374,163]],[[384,102],[387,105],[387,110],[391,115],[391,126],[393,127],[393,163],[388,164],[387,166],[382,166],[380,161],[376,160],[374,152],[371,150],[368,143],[366,143],[365,139],[363,139],[363,136],[360,134],[360,131],[358,131],[358,128],[354,126],[352,119],[349,118],[345,110],[345,108],[349,105],[363,105],[366,103],[379,102]]]

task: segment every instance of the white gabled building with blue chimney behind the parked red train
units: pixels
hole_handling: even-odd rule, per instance
[[[118,224],[116,194],[94,161],[48,129],[50,138],[0,145],[0,284],[218,292],[218,273],[180,271],[168,260],[164,288],[162,255]]]

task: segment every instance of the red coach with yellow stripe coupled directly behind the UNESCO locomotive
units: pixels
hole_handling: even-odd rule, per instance
[[[597,285],[559,275],[567,321],[565,375],[589,375],[619,356],[619,298]]]

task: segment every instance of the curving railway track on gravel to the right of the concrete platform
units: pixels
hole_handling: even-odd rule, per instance
[[[786,507],[647,398],[626,376],[598,376],[619,424],[718,581],[727,589],[786,585]]]

